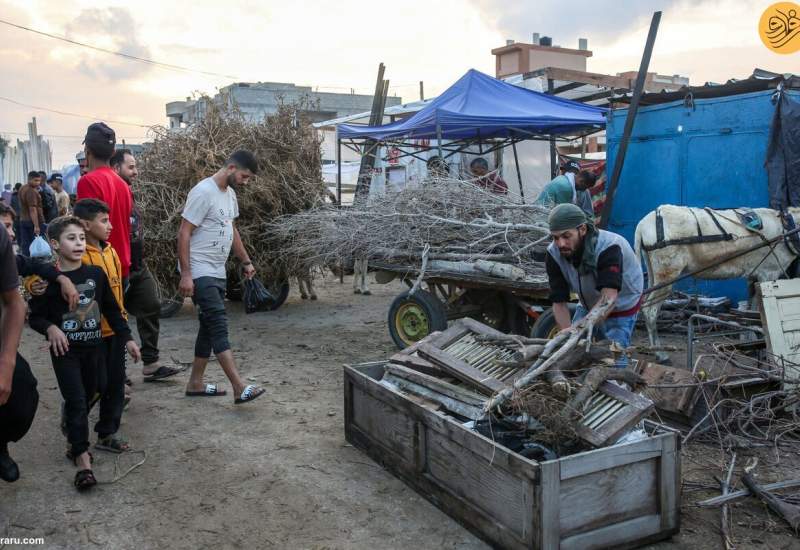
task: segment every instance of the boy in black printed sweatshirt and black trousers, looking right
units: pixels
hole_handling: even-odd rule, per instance
[[[31,299],[30,326],[50,342],[50,357],[65,403],[68,456],[78,467],[75,487],[85,490],[97,484],[89,454],[88,410],[102,360],[101,319],[105,317],[114,333],[126,342],[134,362],[140,358],[139,346],[131,337],[103,270],[81,262],[86,251],[81,221],[71,216],[56,218],[47,233],[61,273],[75,284],[80,299],[78,308],[70,311],[55,288],[48,287],[42,296]]]

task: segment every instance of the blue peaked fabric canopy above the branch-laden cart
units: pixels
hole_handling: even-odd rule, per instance
[[[527,90],[470,69],[413,116],[383,126],[339,125],[341,139],[489,139],[602,130],[607,109]]]

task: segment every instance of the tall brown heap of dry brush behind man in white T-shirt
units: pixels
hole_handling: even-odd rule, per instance
[[[307,105],[280,105],[275,114],[249,121],[229,101],[201,98],[203,118],[181,130],[154,128],[155,139],[139,160],[134,195],[144,216],[145,257],[165,292],[175,283],[176,236],[189,190],[223,166],[237,149],[251,151],[259,174],[236,190],[237,227],[256,268],[280,269],[264,238],[278,216],[322,200],[320,141],[303,115]]]

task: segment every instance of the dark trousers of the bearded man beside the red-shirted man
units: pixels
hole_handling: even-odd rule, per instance
[[[161,312],[158,287],[146,267],[131,271],[128,284],[125,308],[136,317],[136,328],[142,340],[142,362],[149,365],[158,361],[158,315]]]

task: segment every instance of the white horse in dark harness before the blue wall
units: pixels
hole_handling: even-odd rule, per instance
[[[736,210],[663,205],[648,213],[636,226],[634,238],[636,255],[644,259],[647,267],[648,286],[654,287],[683,273],[713,265],[784,232],[780,214],[776,210],[755,208],[752,212],[760,217],[763,224],[761,229],[748,229],[740,221]],[[800,208],[790,208],[789,212],[795,223],[800,224]],[[706,242],[701,242],[701,236]],[[785,240],[779,240],[773,246],[765,246],[710,267],[698,277],[744,277],[750,283],[773,281],[791,275],[789,269],[796,258]],[[661,303],[671,291],[672,285],[667,285],[644,297],[642,315],[652,346],[660,345],[656,320]],[[659,361],[668,359],[663,352],[657,353],[656,357]]]

